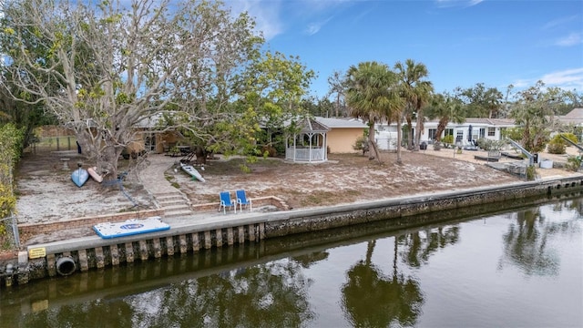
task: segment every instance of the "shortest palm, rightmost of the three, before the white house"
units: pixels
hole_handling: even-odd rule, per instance
[[[434,95],[431,104],[426,109],[428,118],[439,118],[437,130],[435,131],[436,141],[441,140],[441,134],[444,132],[447,123],[455,122],[461,124],[465,122],[464,107],[461,100],[447,93]]]

